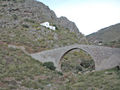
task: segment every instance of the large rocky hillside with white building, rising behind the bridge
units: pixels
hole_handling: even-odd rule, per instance
[[[56,30],[41,26],[44,22]],[[86,43],[73,22],[57,18],[48,6],[35,0],[0,0],[0,41],[25,46],[29,52]]]

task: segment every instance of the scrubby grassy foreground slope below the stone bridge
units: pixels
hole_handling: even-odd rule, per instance
[[[68,68],[75,68],[74,64],[67,63]],[[0,44],[0,90],[120,90],[119,82],[120,71],[116,68],[63,74],[48,69],[19,49]]]

